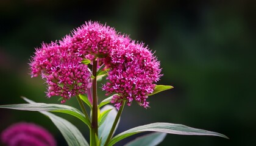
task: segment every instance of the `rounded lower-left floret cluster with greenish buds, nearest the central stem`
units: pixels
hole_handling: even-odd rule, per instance
[[[62,96],[62,103],[78,94],[87,93],[90,87],[90,72],[84,64],[63,63],[52,68],[46,80],[48,83],[48,97]]]

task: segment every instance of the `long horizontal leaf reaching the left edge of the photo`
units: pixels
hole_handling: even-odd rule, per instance
[[[32,100],[26,99],[24,100],[30,102]],[[23,111],[51,111],[57,113],[65,113],[70,114],[78,119],[82,120],[84,123],[88,125],[90,128],[90,120],[87,119],[82,112],[78,109],[73,108],[68,105],[59,105],[59,104],[47,104],[47,103],[23,103],[23,104],[13,104],[13,105],[0,105],[0,108],[9,108],[9,109],[18,109]]]

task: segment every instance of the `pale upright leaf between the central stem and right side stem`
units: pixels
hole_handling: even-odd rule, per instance
[[[112,105],[105,105],[101,109],[101,111],[102,112],[107,111],[108,109],[112,109],[112,110],[108,113],[105,121],[101,124],[101,127],[99,127],[99,137],[101,139],[101,145],[105,144],[105,141],[107,140],[107,136],[110,133],[110,130],[111,130],[112,125],[114,123],[116,114],[118,113],[116,111],[116,108]],[[118,123],[117,123],[116,127],[118,127]]]

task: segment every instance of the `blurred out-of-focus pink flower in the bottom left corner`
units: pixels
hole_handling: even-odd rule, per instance
[[[55,146],[51,133],[34,123],[15,123],[1,134],[2,143],[7,146]]]

